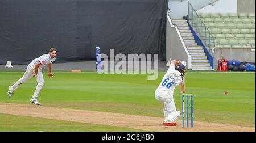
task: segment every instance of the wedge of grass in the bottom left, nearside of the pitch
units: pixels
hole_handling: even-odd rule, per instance
[[[134,132],[142,131],[109,125],[85,124],[72,121],[6,115],[0,113],[0,132]]]

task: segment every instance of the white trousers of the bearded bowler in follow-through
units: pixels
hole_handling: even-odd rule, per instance
[[[28,79],[33,77],[34,73],[35,73],[34,65],[29,64],[27,66],[26,72],[24,73],[23,77],[20,78],[17,82],[15,82],[13,86],[10,86],[9,90],[14,91],[14,90],[18,89],[19,85],[28,81]],[[36,90],[32,96],[33,98],[38,97],[38,94],[44,85],[44,77],[43,77],[43,73],[42,73],[42,68],[38,69],[38,74],[36,75],[35,78],[36,78],[36,81],[38,82],[38,85],[36,86]]]

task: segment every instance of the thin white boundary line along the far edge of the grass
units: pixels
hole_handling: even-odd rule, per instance
[[[17,71],[17,72],[14,72],[14,71],[11,71],[11,72],[8,72],[8,71],[0,71],[0,73],[24,73],[24,72],[20,72],[20,71]],[[48,72],[43,72],[43,73],[48,73]],[[52,73],[97,73],[97,72],[52,72]],[[108,73],[115,73],[115,72],[108,72]],[[141,73],[141,72],[127,72],[127,73]],[[126,73],[126,74],[127,74]],[[153,73],[153,72],[150,72],[150,73]],[[157,72],[154,72],[154,73],[157,73]],[[166,72],[158,72],[158,73],[166,73]],[[187,72],[187,73],[255,73],[255,72]],[[104,74],[104,73],[103,73]]]

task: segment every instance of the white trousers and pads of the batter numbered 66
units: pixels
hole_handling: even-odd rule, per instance
[[[173,96],[161,97],[161,96],[155,95],[155,99],[164,105],[163,113],[166,121],[173,122],[180,117],[180,111],[176,111],[176,106],[174,103]]]

